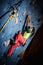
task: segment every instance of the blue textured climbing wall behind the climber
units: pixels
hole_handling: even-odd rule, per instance
[[[10,5],[13,5],[17,3],[20,0],[1,0],[0,2],[0,16],[2,16],[6,11],[9,10]],[[40,14],[40,7],[38,4],[32,4],[32,0],[23,0],[22,4],[17,8],[18,9],[18,17],[12,18],[10,22],[6,25],[6,27],[3,29],[2,32],[0,32],[0,58],[3,55],[3,53],[10,47],[7,46],[5,47],[3,45],[4,41],[7,41],[9,39],[13,39],[13,36],[15,33],[17,33],[19,30],[22,32],[22,27],[25,23],[25,18],[26,15],[31,16],[31,27],[35,27],[35,33],[37,32],[38,28],[41,26],[41,14]],[[3,26],[3,24],[7,21],[9,18],[9,15],[11,14],[11,9],[10,12],[8,12],[6,15],[4,15],[2,18],[0,18],[0,29]],[[16,23],[16,20],[18,21]],[[35,34],[34,34],[35,35]],[[25,46],[19,46],[17,47],[12,56],[7,58],[6,64],[7,65],[16,65],[17,62],[19,61],[20,53],[27,48],[27,46],[30,44],[30,41],[34,37],[29,37],[28,40],[26,41]],[[4,61],[3,61],[4,62]],[[1,63],[1,62],[0,62]]]

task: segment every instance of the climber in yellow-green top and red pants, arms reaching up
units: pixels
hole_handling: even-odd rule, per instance
[[[17,48],[21,44],[24,45],[26,43],[26,40],[33,31],[34,27],[30,27],[30,16],[28,15],[24,34],[22,35],[20,31],[18,32],[18,34],[15,37],[15,41],[13,41],[15,44],[11,45],[6,55],[11,56],[15,48]]]

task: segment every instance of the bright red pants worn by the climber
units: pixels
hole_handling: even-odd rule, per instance
[[[19,32],[17,34],[17,36],[15,37],[15,40],[17,40],[17,43],[14,45],[11,45],[11,47],[9,48],[8,52],[7,52],[7,56],[11,56],[11,54],[13,53],[14,49],[18,46],[20,46],[21,44],[24,44],[26,42],[26,40],[23,38],[22,34]]]

